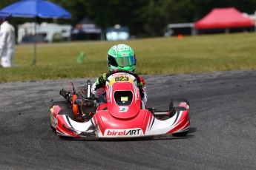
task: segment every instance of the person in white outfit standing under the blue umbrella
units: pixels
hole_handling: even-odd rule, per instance
[[[0,58],[1,67],[13,67],[15,30],[7,17],[0,16]]]

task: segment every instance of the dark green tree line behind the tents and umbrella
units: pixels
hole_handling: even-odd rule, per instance
[[[0,9],[17,0],[2,0]],[[78,23],[88,17],[105,30],[120,24],[129,27],[137,37],[161,36],[167,24],[194,22],[206,16],[215,7],[236,7],[242,13],[255,13],[256,0],[49,0],[68,10],[72,18],[59,19],[59,24]],[[11,18],[22,24],[31,18]],[[39,19],[39,21],[42,21]],[[45,19],[44,19],[45,21]],[[46,21],[53,20],[46,19]]]

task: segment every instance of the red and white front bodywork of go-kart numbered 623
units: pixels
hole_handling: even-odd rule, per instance
[[[68,137],[145,137],[174,134],[188,131],[189,106],[166,120],[159,120],[148,109],[142,109],[137,78],[124,72],[108,77],[106,103],[97,107],[93,118],[87,122],[72,120],[68,115],[59,115],[61,108],[50,109],[51,126],[56,133]]]

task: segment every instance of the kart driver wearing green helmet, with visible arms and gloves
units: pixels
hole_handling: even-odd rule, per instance
[[[108,50],[107,64],[108,70],[110,72],[114,69],[124,69],[134,72],[136,67],[136,58],[134,50],[132,50],[131,47],[125,44],[114,45],[113,47],[111,47],[110,50]],[[106,79],[106,73],[104,73],[96,79],[96,82],[93,84],[91,88],[91,92],[93,93],[93,95],[105,95],[104,86],[106,83]],[[143,101],[142,103],[144,104],[142,108],[145,109],[148,100],[145,88],[145,81],[143,78],[140,78],[140,81],[141,82],[137,84],[137,86],[140,89],[140,95]]]

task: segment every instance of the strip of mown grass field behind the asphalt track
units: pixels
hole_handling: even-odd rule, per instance
[[[256,33],[144,38],[129,41],[80,41],[16,46],[15,67],[0,68],[0,82],[97,77],[108,72],[106,53],[114,44],[130,45],[140,75],[256,69]],[[82,64],[76,62],[85,52]]]

